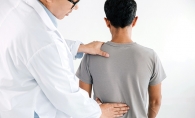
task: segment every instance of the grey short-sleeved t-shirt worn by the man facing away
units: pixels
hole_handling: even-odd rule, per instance
[[[107,42],[102,50],[110,57],[85,55],[76,75],[93,84],[94,98],[128,104],[130,110],[122,118],[147,118],[148,86],[166,78],[157,54],[137,43]]]

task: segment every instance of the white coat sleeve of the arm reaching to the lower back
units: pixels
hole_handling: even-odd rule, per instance
[[[63,43],[49,44],[29,59],[27,68],[56,109],[73,118],[99,118],[100,107],[79,88],[67,50]]]

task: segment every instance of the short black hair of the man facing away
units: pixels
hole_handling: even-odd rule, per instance
[[[115,28],[129,26],[136,16],[137,3],[134,0],[106,0],[104,11]]]

